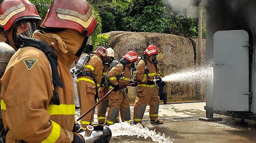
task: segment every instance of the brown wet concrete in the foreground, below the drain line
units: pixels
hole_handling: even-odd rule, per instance
[[[231,121],[232,122],[232,121]],[[167,122],[163,125],[152,126],[145,124],[149,129],[156,129],[174,139],[173,143],[254,143],[256,142],[256,128],[254,123],[236,124],[230,121],[205,122],[200,120]],[[150,138],[142,137],[113,137],[112,143],[147,143]]]

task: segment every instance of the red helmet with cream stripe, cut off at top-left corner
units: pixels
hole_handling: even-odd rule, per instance
[[[0,3],[0,30],[9,31],[19,20],[31,19],[37,23],[42,19],[35,5],[29,0],[4,0]]]

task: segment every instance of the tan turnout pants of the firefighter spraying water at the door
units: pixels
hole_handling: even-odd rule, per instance
[[[141,123],[147,104],[149,105],[149,118],[157,119],[159,109],[158,90],[155,87],[138,87],[134,103],[134,123]]]

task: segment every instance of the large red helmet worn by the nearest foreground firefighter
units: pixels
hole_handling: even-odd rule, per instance
[[[41,27],[74,29],[90,36],[97,20],[86,0],[53,0]]]

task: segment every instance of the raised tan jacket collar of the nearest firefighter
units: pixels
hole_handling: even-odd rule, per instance
[[[60,39],[60,37],[57,34],[54,34],[54,38],[53,38],[51,36],[40,33],[39,31],[35,31],[33,34],[33,38],[41,40],[41,41],[47,43],[48,45],[50,45],[53,48],[58,59],[68,67],[70,67],[70,65],[74,61],[78,60],[78,57],[76,57],[74,54],[72,54],[72,53],[68,52],[66,49],[64,49],[63,43],[60,42],[62,40],[58,40],[58,39]]]

